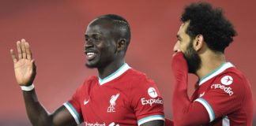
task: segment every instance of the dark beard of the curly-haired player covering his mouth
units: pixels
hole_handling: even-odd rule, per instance
[[[201,58],[198,52],[193,48],[193,40],[190,40],[190,45],[187,46],[186,52],[184,52],[184,57],[188,65],[189,73],[196,73],[198,69],[201,68]]]

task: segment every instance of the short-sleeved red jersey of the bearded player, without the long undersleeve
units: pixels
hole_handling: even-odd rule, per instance
[[[229,62],[198,81],[191,100],[205,106],[208,125],[252,125],[254,102],[250,83]]]

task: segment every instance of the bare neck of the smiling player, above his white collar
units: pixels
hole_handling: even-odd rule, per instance
[[[119,60],[119,61],[112,62],[108,65],[105,65],[102,68],[98,68],[100,78],[104,79],[105,77],[111,75],[111,73],[118,70],[124,64],[124,62],[125,62],[124,60]]]

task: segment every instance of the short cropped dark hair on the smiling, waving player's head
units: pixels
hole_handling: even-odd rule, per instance
[[[97,17],[98,19],[109,19],[114,24],[114,27],[119,29],[120,37],[126,39],[127,46],[130,43],[130,24],[128,21],[116,14],[106,14],[102,15],[100,17]]]

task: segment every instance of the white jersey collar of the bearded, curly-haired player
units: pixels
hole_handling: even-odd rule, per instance
[[[219,68],[213,70],[213,72],[210,72],[208,75],[201,78],[201,80],[198,80],[198,85],[201,86],[201,84],[205,83],[207,80],[212,79],[214,76],[219,75],[221,72],[224,72],[228,68],[235,67],[230,62],[225,62],[223,65],[220,65]]]

